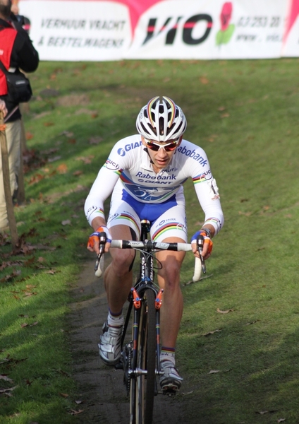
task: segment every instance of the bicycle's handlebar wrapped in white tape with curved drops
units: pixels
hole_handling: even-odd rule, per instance
[[[145,249],[145,252],[159,251],[159,250],[172,250],[175,252],[190,252],[192,245],[190,243],[164,243],[152,242],[150,240],[134,241],[134,240],[112,240],[112,248],[118,249]],[[202,251],[202,244],[199,243],[199,252]],[[97,277],[102,276],[103,272],[104,252],[100,252],[97,257],[97,262],[94,266],[94,275]],[[200,281],[202,271],[205,273],[205,260],[200,254],[200,258],[195,258],[193,281]]]

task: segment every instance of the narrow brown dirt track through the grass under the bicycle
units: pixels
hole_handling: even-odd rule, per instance
[[[78,285],[73,289],[71,305],[71,343],[75,365],[75,379],[84,401],[78,416],[83,424],[126,424],[129,405],[123,386],[123,372],[107,367],[99,359],[97,342],[106,320],[107,305],[102,278],[93,273],[94,261],[87,261]],[[154,400],[154,424],[184,423],[183,397],[159,395]]]

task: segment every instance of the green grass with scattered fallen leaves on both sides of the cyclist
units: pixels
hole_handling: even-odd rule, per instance
[[[16,387],[0,394],[1,424],[77,422],[67,313],[87,258],[83,204],[154,95],[183,108],[185,138],[207,152],[226,217],[210,277],[184,285],[191,255],[182,270],[188,423],[298,423],[297,69],[298,59],[40,64],[25,113],[35,155],[15,208],[30,249],[11,257],[1,246],[0,375],[13,382],[0,387]],[[185,196],[191,235],[203,218],[190,182]]]

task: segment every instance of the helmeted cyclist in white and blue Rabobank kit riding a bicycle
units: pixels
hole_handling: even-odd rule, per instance
[[[116,143],[92,185],[85,201],[85,213],[94,229],[87,249],[99,252],[99,232],[106,233],[105,252],[110,242],[139,240],[140,219],[151,222],[150,235],[156,242],[187,242],[183,183],[191,177],[205,223],[191,237],[204,236],[202,255],[212,252],[212,237],[224,223],[218,187],[205,151],[183,139],[187,122],[173,100],[155,97],[142,107],[136,127],[138,134]],[[104,201],[112,193],[109,218],[104,216]],[[196,252],[196,243],[193,252]],[[111,264],[104,272],[109,312],[99,341],[99,355],[107,365],[121,356],[123,304],[132,286],[135,251],[110,249]],[[183,313],[180,269],[185,252],[157,252],[162,268],[158,283],[164,288],[161,307],[161,355],[163,391],[177,390],[183,378],[175,361],[176,338]]]

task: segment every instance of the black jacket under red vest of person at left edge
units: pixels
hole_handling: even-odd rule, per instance
[[[39,56],[37,51],[32,45],[28,33],[20,25],[13,25],[18,31],[15,42],[13,43],[13,49],[11,51],[11,68],[18,68],[24,72],[33,72],[37,69],[39,64]],[[1,30],[4,28],[11,28],[11,25],[4,19],[0,18],[0,46],[1,46]],[[15,103],[8,100],[7,95],[1,95],[0,98],[6,102],[8,114],[16,107]],[[16,121],[20,119],[20,110],[17,109],[7,122]]]

